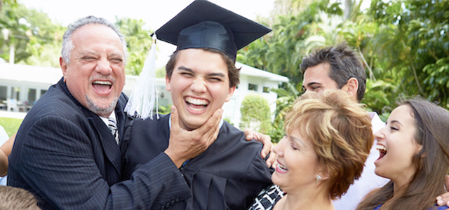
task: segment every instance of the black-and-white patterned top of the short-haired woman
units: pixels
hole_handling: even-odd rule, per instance
[[[274,204],[281,200],[284,195],[286,194],[282,192],[279,186],[269,186],[260,191],[259,195],[255,197],[253,205],[248,210],[271,210]]]

